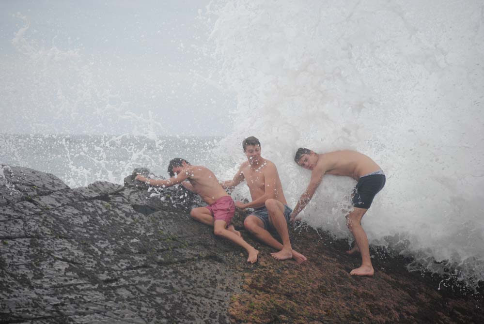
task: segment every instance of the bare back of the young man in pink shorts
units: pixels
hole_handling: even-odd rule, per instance
[[[193,191],[202,197],[209,205],[220,197],[228,196],[222,188],[215,174],[202,166],[188,166],[182,172],[187,172],[188,181],[193,186]]]

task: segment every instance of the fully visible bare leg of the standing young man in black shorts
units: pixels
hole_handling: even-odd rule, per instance
[[[350,275],[354,276],[373,276],[375,272],[370,259],[368,237],[366,236],[365,231],[363,231],[363,227],[361,227],[361,218],[365,215],[366,211],[367,209],[355,207],[355,209],[346,216],[346,225],[351,231],[351,234],[353,234],[356,246],[361,253],[361,266],[350,272]]]

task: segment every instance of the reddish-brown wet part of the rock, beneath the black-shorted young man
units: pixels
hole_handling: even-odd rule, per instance
[[[346,241],[304,227],[293,235],[308,262],[261,258],[244,278],[243,293],[232,297],[235,322],[484,323],[482,292],[439,291],[442,278],[410,273],[411,260],[373,248],[374,277],[353,277],[360,258],[344,253]]]

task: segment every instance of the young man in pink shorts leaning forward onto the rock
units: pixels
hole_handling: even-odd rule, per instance
[[[215,235],[245,248],[249,253],[247,262],[256,262],[259,251],[244,241],[240,232],[235,231],[234,225],[230,224],[235,213],[234,201],[219,184],[214,173],[205,167],[192,166],[179,157],[170,161],[168,173],[172,177],[168,180],[148,179],[141,175],[137,175],[135,180],[163,187],[182,184],[188,190],[199,194],[208,206],[192,209],[190,216],[203,224],[213,226]]]

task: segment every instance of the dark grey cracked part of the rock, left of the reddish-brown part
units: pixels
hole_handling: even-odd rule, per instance
[[[0,182],[0,323],[229,322],[242,251],[190,219],[203,202],[181,186],[71,189],[10,166]]]

